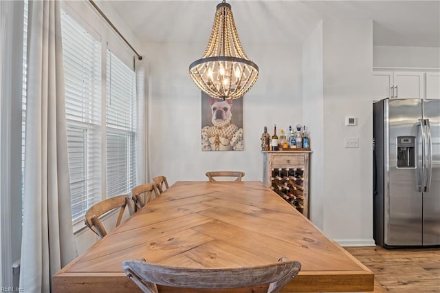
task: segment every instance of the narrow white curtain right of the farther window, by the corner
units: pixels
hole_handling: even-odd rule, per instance
[[[135,58],[137,95],[137,178],[136,184],[148,181],[148,64],[146,58]]]

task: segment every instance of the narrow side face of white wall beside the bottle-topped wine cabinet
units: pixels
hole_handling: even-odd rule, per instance
[[[324,96],[322,64],[322,21],[303,43],[303,117],[309,126],[313,153],[309,166],[309,215],[323,228],[324,206]]]

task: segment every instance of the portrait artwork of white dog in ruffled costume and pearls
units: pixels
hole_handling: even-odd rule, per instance
[[[201,150],[243,151],[243,98],[221,100],[201,92]]]

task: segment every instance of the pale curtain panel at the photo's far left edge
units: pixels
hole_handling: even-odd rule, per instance
[[[18,286],[21,243],[23,2],[0,1],[0,284]],[[1,290],[0,290],[1,291]]]

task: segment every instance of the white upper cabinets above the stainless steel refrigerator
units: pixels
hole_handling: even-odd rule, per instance
[[[440,99],[440,72],[373,71],[375,100],[383,98]]]

